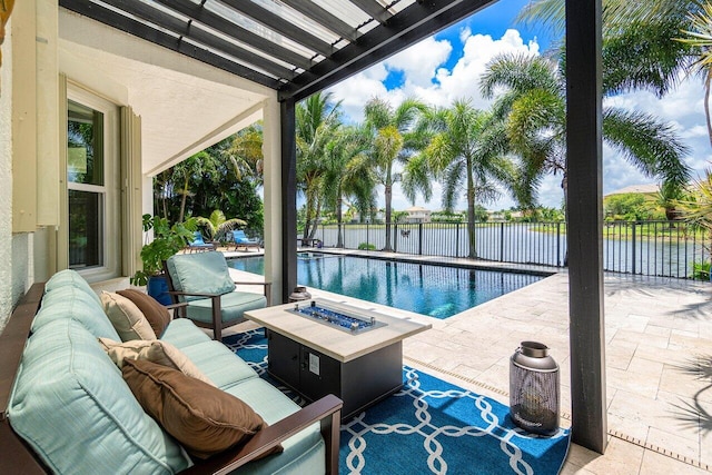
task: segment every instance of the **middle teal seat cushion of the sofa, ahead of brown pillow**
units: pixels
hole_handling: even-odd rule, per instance
[[[210,380],[220,389],[259,377],[255,369],[219,342],[204,342],[182,348],[181,352],[205,375],[210,375]]]

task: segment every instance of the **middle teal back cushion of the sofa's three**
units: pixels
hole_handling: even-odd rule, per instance
[[[65,319],[79,321],[97,338],[121,339],[101,304],[78,286],[63,285],[46,293],[42,306],[32,320],[32,331],[50,321]]]

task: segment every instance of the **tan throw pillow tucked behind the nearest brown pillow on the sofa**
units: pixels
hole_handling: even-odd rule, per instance
[[[174,345],[159,339],[135,339],[131,342],[115,342],[109,338],[99,338],[107,355],[119,367],[123,367],[127,359],[146,359],[169,368],[178,369],[186,376],[200,379],[211,386],[210,380],[188,357]]]

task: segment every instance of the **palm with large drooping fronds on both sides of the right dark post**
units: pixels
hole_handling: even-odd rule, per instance
[[[494,105],[495,117],[506,122],[510,146],[524,162],[523,182],[535,185],[546,174],[562,175],[564,198],[566,180],[566,99],[558,66],[551,59],[526,55],[495,57],[481,78],[484,97],[505,88]],[[688,148],[672,126],[653,116],[606,107],[603,110],[603,138],[629,162],[670,189],[682,189],[690,177],[683,161]]]

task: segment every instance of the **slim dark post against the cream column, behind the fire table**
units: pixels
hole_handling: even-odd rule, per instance
[[[297,146],[295,101],[280,102],[281,122],[281,301],[297,285]]]

